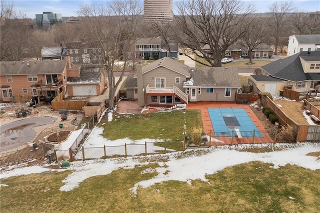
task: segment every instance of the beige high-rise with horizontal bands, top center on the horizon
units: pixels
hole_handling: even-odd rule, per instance
[[[172,21],[173,0],[144,0],[145,21]]]

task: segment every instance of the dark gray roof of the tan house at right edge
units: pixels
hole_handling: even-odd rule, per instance
[[[303,80],[320,80],[320,72],[304,73],[300,56],[304,58],[312,58],[314,61],[320,61],[320,51],[302,51],[291,55],[284,59],[278,59],[269,64],[261,66],[263,70],[269,73],[273,77],[291,80],[291,81],[303,81]],[[308,59],[306,59],[309,61]]]

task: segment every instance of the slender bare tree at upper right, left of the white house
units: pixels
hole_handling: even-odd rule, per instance
[[[272,31],[272,35],[275,39],[274,41],[274,54],[277,54],[277,48],[279,44],[279,37],[282,35],[283,26],[287,23],[289,19],[289,12],[293,10],[292,2],[283,1],[281,3],[274,2],[270,8],[271,17],[268,24],[270,26],[270,30]]]

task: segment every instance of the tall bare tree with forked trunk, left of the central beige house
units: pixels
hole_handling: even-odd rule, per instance
[[[142,5],[136,0],[115,0],[103,4],[81,5],[78,15],[83,16],[86,40],[96,42],[102,50],[99,63],[106,71],[109,85],[110,108],[114,105],[114,94],[122,80],[131,55],[130,46],[136,34],[142,30]],[[114,63],[123,61],[119,79],[115,82]]]

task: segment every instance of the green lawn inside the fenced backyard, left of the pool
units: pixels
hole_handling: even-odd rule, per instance
[[[107,117],[102,118],[103,136],[114,140],[128,137],[132,140],[153,139],[183,139],[183,126],[186,132],[200,124],[202,126],[200,110],[173,110],[170,112],[146,114],[117,114],[108,122]],[[185,121],[184,121],[185,120]]]

